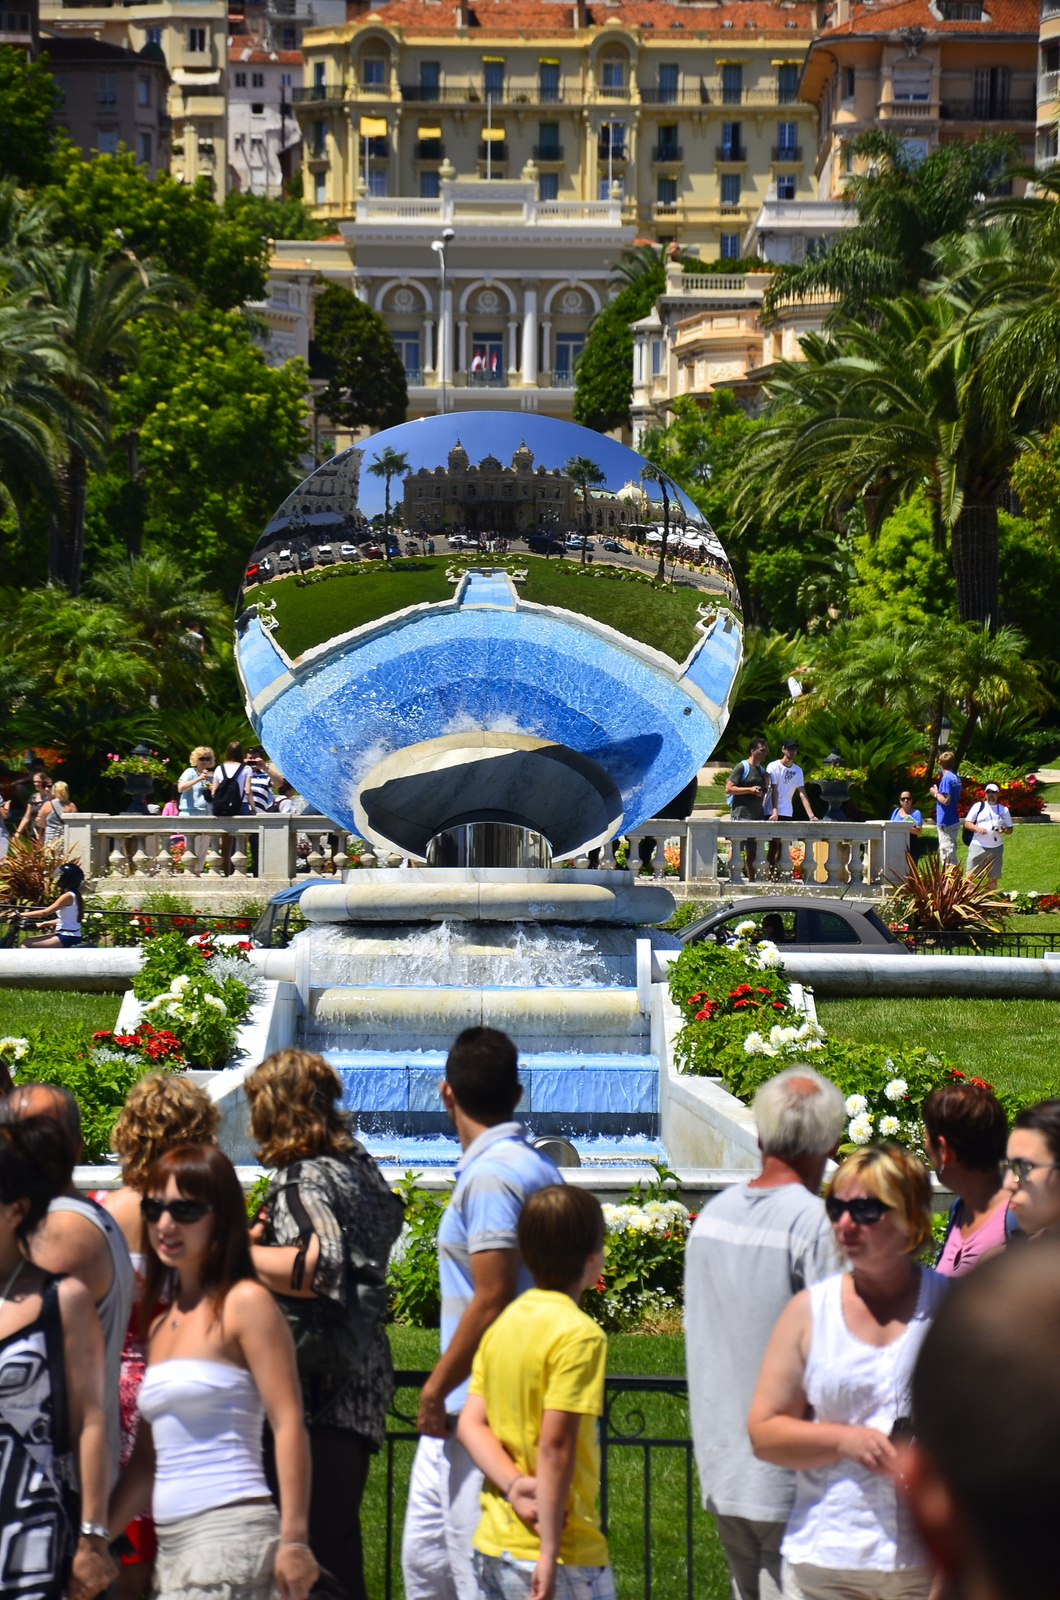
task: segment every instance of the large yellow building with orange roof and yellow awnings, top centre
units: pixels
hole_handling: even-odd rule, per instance
[[[817,118],[797,83],[804,0],[391,0],[307,29],[306,197],[436,200],[532,178],[538,200],[621,198],[644,238],[737,258],[767,194],[810,198]]]

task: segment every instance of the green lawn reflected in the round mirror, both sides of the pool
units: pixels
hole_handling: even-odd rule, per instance
[[[463,565],[460,557],[455,560]],[[247,598],[275,600],[275,640],[296,659],[314,645],[392,611],[447,600],[453,594],[445,579],[450,562],[450,557],[424,557],[394,562],[389,570],[383,562],[333,566],[327,578],[304,586],[296,576],[274,579],[250,589]],[[583,573],[567,562],[560,565],[535,555],[509,557],[508,566],[528,570],[528,581],[520,587],[527,600],[607,622],[676,661],[684,661],[697,642],[698,606],[705,598],[698,589],[650,589],[620,576],[618,568],[588,566]]]

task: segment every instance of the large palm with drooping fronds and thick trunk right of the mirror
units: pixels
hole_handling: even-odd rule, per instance
[[[812,493],[826,515],[865,501],[869,534],[925,488],[950,538],[962,622],[998,624],[998,498],[1026,443],[1012,406],[985,405],[988,333],[954,290],[873,302],[876,323],[841,318],[804,338],[804,362],[770,384],[767,426],[748,451],[743,518]]]

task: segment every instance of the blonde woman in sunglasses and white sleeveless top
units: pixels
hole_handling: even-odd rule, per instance
[[[756,1456],[796,1472],[785,1600],[927,1600],[934,1568],[895,1488],[911,1381],[946,1280],[927,1170],[882,1146],[850,1155],[825,1197],[849,1272],[796,1294],[765,1350],[748,1418]]]

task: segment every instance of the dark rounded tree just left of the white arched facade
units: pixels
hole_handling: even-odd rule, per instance
[[[319,408],[341,427],[395,427],[405,421],[405,365],[383,318],[362,299],[328,283],[314,307],[311,371],[327,387]]]

